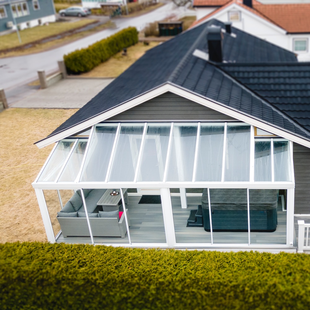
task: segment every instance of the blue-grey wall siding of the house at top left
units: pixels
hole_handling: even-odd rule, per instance
[[[19,4],[22,2],[27,2],[29,15],[15,17],[16,24],[25,23],[25,22],[28,22],[29,20],[39,19],[39,18],[42,18],[45,16],[55,14],[54,2],[52,0],[39,0],[39,7],[40,7],[39,10],[33,9],[32,0],[12,1],[11,3],[12,4]],[[10,4],[7,4],[7,1],[5,1],[3,3],[6,3],[6,4],[3,5],[2,2],[0,2],[0,6],[5,7],[5,9],[7,11],[7,17],[0,19],[0,31],[8,30],[6,27],[6,23],[8,21],[13,22]]]

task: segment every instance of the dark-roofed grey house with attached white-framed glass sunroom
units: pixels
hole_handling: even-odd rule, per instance
[[[48,240],[296,252],[309,73],[218,20],[147,51],[36,142],[55,144],[32,184]]]

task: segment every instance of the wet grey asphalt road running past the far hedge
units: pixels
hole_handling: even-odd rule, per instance
[[[0,88],[8,91],[36,80],[38,70],[45,70],[47,74],[56,71],[57,60],[61,60],[64,54],[87,47],[129,26],[134,26],[138,30],[143,29],[147,23],[162,20],[174,12],[178,13],[179,9],[174,9],[173,3],[168,3],[141,16],[113,19],[117,29],[106,29],[50,51],[0,59]]]

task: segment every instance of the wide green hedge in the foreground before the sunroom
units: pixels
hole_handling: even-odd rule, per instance
[[[6,243],[1,309],[308,309],[310,255]]]

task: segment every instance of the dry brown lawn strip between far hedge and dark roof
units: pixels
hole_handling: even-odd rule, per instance
[[[146,51],[158,45],[159,42],[149,42],[144,45],[143,42],[127,48],[127,56],[122,52],[112,56],[109,60],[92,69],[90,72],[81,74],[80,77],[88,78],[116,78],[126,69],[128,69],[136,60],[144,55]]]

